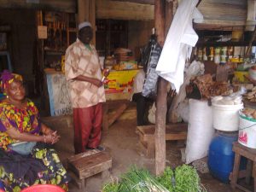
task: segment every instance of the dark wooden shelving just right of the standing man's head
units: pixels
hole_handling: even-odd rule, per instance
[[[113,55],[113,50],[128,45],[128,21],[96,20],[96,49],[100,56]]]

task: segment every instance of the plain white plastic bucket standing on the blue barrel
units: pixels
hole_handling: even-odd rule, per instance
[[[238,131],[239,110],[243,108],[243,103],[239,105],[218,105],[212,103],[213,127],[220,131]]]

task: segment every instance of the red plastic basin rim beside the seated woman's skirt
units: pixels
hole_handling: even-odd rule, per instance
[[[31,187],[23,189],[20,192],[65,192],[65,191],[56,185],[38,184],[38,185],[33,185]]]

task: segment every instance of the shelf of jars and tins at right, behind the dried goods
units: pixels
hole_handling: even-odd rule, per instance
[[[245,76],[248,76],[247,70],[255,65],[255,47],[253,46],[249,56],[246,56],[247,44],[245,46],[227,45],[230,44],[217,44],[215,47],[212,44],[207,44],[207,46],[205,44],[201,47],[197,45],[194,49],[194,56],[205,64],[206,72],[222,73],[228,77],[230,82],[248,83]]]

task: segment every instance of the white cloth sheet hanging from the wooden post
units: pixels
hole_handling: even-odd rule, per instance
[[[179,3],[156,67],[157,73],[169,81],[172,89],[177,92],[183,84],[185,61],[190,57],[192,46],[195,46],[198,40],[192,20],[203,19],[195,8],[197,3],[198,0],[182,0]]]

